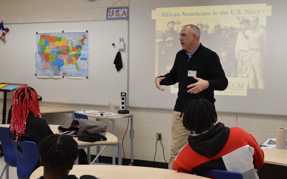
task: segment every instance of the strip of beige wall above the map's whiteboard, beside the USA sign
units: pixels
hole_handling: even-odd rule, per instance
[[[106,20],[107,7],[123,6],[129,0],[0,0],[0,17],[4,23]]]

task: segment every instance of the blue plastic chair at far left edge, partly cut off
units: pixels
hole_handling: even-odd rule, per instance
[[[4,161],[6,163],[0,175],[0,179],[2,178],[5,170],[6,170],[6,179],[9,179],[9,166],[10,167],[17,166],[17,157],[13,143],[9,137],[8,127],[0,127],[0,141],[3,149],[2,152],[4,155]]]

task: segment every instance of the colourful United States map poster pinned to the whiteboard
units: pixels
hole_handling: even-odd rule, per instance
[[[89,78],[89,33],[36,33],[38,78]]]

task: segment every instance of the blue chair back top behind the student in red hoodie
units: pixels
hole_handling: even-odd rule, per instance
[[[243,176],[239,172],[230,172],[226,170],[208,170],[208,171],[200,171],[195,172],[195,175],[203,176],[206,178],[214,178],[214,179],[243,179]]]

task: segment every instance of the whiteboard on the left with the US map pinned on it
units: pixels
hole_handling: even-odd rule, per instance
[[[10,31],[6,41],[0,43],[1,82],[28,84],[45,102],[108,105],[110,98],[114,98],[115,105],[120,105],[121,92],[127,92],[127,20],[5,24],[5,27]],[[79,30],[89,32],[89,79],[35,78],[36,32]],[[117,72],[113,62],[119,51],[119,37],[123,38],[125,49],[120,50],[123,68]],[[7,99],[12,94],[7,93]]]

